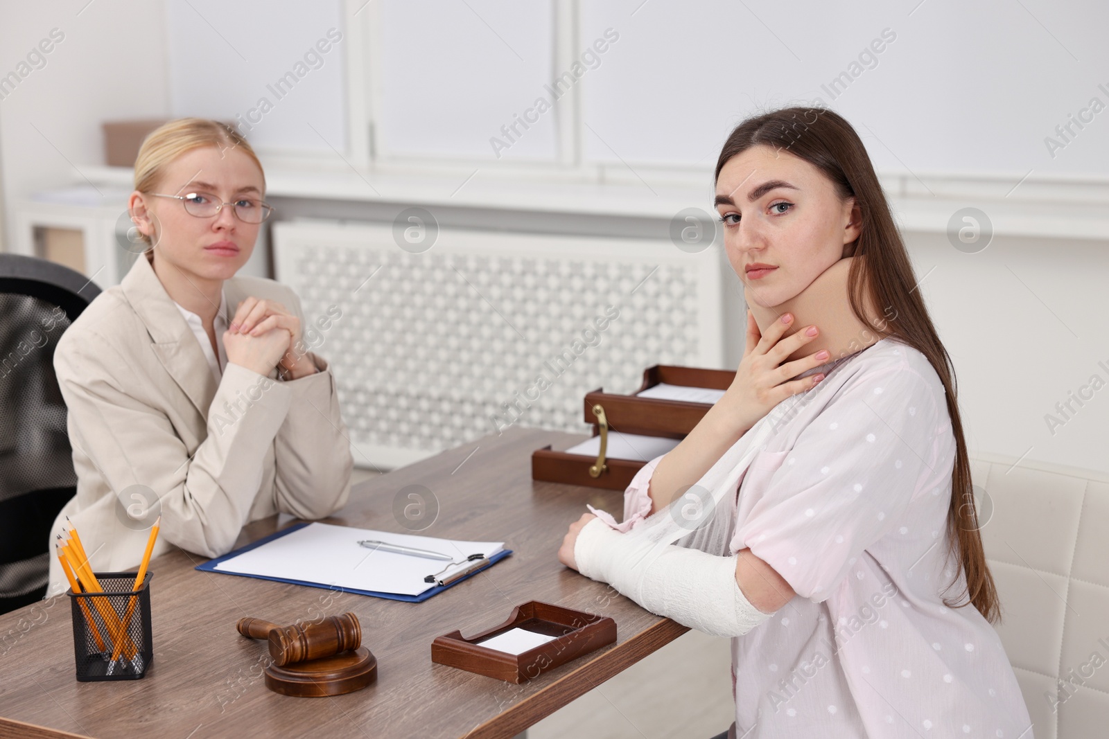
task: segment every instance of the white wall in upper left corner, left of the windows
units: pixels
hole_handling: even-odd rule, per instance
[[[52,29],[63,37],[45,64],[0,100],[6,202],[84,182],[81,167],[104,161],[101,122],[166,114],[161,2],[3,0],[0,19],[0,75],[26,62]]]

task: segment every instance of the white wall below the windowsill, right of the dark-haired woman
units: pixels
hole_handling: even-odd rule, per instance
[[[1109,472],[1109,243],[997,237],[962,254],[910,238],[914,268],[955,362],[967,444]],[[1099,366],[1098,362],[1101,362]],[[1065,420],[1055,406],[1100,377]],[[1046,414],[1065,420],[1052,433]]]

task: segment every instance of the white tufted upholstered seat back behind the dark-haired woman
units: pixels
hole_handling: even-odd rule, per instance
[[[1109,736],[1109,474],[1016,462],[970,454],[995,626],[1036,739]]]

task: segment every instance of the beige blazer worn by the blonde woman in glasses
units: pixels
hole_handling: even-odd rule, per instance
[[[299,299],[278,283],[235,277],[223,289],[232,314],[253,295],[282,302],[309,326]],[[323,331],[332,318],[311,320]],[[311,357],[321,371],[297,380],[228,362],[216,383],[153,267],[136,259],[54,352],[78,476],[55,533],[68,515],[92,568],[113,572],[139,565],[159,512],[154,555],[177,546],[200,563],[228,552],[250,521],[278,512],[321,519],[342,507],[350,492],[350,444],[335,378]],[[156,502],[144,502],[153,499],[147,489]],[[144,521],[129,513],[143,516],[147,507],[153,513]],[[49,594],[68,586],[51,552]]]

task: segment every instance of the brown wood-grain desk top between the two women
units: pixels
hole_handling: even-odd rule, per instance
[[[118,682],[77,681],[67,596],[0,616],[0,737],[409,739],[523,731],[688,630],[558,562],[567,526],[586,503],[617,517],[622,510],[617,491],[532,482],[532,450],[581,439],[510,429],[352,492],[327,521],[407,533],[394,517],[394,497],[406,485],[424,485],[438,499],[439,515],[420,533],[503,540],[515,552],[421,604],[197,572],[203,558],[176,551],[151,563],[154,664],[145,678]],[[236,546],[276,527],[276,516],[255,522]],[[455,628],[475,634],[532,599],[611,616],[617,644],[519,686],[431,663],[436,636]],[[243,616],[292,624],[346,610],[362,622],[378,679],[345,696],[272,692],[262,678],[264,644],[235,632]]]

